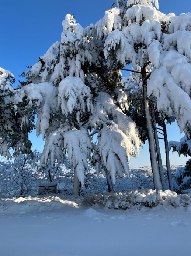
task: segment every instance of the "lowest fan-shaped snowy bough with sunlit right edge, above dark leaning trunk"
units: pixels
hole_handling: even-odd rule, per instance
[[[97,172],[109,172],[115,183],[115,175],[129,175],[129,159],[136,156],[135,149],[129,137],[115,123],[104,126],[98,135],[93,158]]]

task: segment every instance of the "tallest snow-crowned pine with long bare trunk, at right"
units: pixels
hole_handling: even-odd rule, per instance
[[[154,186],[159,190],[162,184],[148,97],[153,94],[157,110],[174,115],[181,131],[187,133],[191,125],[191,15],[163,14],[152,2],[158,8],[157,0],[119,0],[120,8],[106,11],[95,27],[97,35],[105,39],[108,65],[123,69],[131,63],[132,69],[142,76],[150,160]]]

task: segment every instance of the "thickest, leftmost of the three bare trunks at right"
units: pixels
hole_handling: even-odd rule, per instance
[[[145,104],[145,115],[146,115],[146,124],[148,130],[148,140],[149,140],[149,153],[150,153],[150,163],[153,172],[153,182],[154,188],[156,190],[162,190],[162,183],[160,181],[159,167],[157,163],[156,149],[154,143],[154,134],[152,129],[152,118],[150,116],[150,107],[149,100],[147,98],[147,74],[146,70],[142,70],[142,79],[143,79],[143,97]]]

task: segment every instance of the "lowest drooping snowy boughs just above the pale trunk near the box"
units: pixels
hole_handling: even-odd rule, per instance
[[[83,186],[92,144],[86,130],[69,129],[69,126],[60,128],[46,139],[41,163],[46,166],[50,159],[51,166],[54,167],[55,162],[60,164],[67,159]]]

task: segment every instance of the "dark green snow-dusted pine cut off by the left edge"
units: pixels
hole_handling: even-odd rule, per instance
[[[13,74],[0,68],[0,154],[11,158],[9,149],[15,155],[20,153],[31,153],[31,142],[28,139],[28,132],[31,132],[33,124],[30,119],[23,124],[25,119],[23,111],[19,106],[14,106],[14,98],[17,97],[13,89],[15,78]]]

